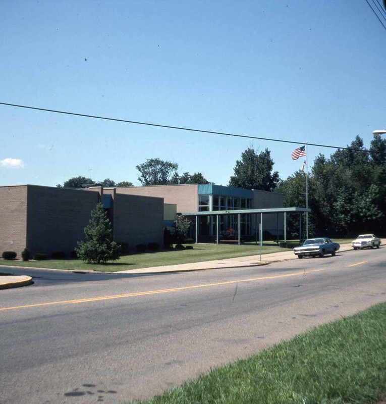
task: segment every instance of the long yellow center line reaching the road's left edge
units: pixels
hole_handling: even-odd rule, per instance
[[[309,274],[309,273],[312,273],[312,272],[319,272],[319,271],[325,271],[325,269],[314,269],[314,270],[311,270],[311,271],[307,271],[306,273]],[[264,277],[260,277],[260,278],[241,279],[241,280],[237,280],[237,281],[207,283],[207,284],[204,284],[204,285],[181,286],[181,287],[175,287],[175,288],[171,288],[171,289],[149,290],[149,291],[146,291],[146,292],[133,292],[133,293],[125,293],[125,294],[114,294],[114,295],[111,295],[111,296],[88,297],[88,298],[84,298],[84,299],[74,299],[74,300],[50,301],[50,302],[46,302],[46,303],[36,303],[36,304],[33,304],[33,305],[3,307],[3,308],[0,308],[0,311],[2,311],[2,310],[14,310],[14,309],[26,309],[26,308],[29,308],[29,307],[39,307],[39,306],[70,305],[70,304],[76,304],[76,303],[85,303],[85,302],[88,302],[88,301],[121,299],[121,298],[124,298],[124,297],[135,297],[135,296],[145,296],[145,295],[149,295],[149,294],[178,292],[180,290],[198,289],[198,288],[203,288],[203,287],[232,285],[234,283],[241,283],[241,282],[254,282],[254,281],[260,281],[260,280],[266,280],[266,279],[287,278],[287,277],[290,277],[290,276],[298,276],[298,275],[303,275],[303,274],[304,274],[304,271],[301,271],[301,272],[293,272],[291,274],[285,274],[285,275],[273,275],[273,276],[264,276]]]

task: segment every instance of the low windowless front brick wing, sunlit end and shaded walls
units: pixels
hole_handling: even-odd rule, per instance
[[[38,185],[0,187],[0,251],[69,255],[84,239],[90,212],[102,202],[115,241],[163,242],[163,199],[125,195],[115,189],[66,189]]]

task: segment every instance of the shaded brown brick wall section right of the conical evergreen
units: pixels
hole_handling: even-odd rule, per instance
[[[158,242],[163,246],[163,199],[127,195],[111,189],[105,194],[114,197],[114,240],[129,243],[130,249],[137,244]]]

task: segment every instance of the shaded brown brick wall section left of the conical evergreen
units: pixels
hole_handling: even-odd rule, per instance
[[[84,239],[97,192],[28,185],[27,247],[31,254],[63,251]]]

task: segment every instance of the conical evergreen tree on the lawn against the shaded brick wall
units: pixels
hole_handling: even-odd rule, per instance
[[[84,228],[86,240],[78,241],[75,248],[78,257],[93,264],[116,261],[120,258],[120,246],[113,241],[111,223],[102,204],[91,211],[89,225]]]

